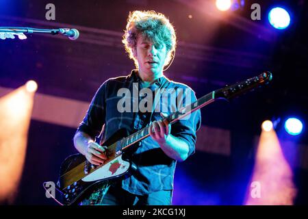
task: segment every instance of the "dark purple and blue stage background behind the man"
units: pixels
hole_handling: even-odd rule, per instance
[[[47,3],[55,4],[55,21],[45,20]],[[277,117],[283,120],[290,114],[307,121],[308,3],[245,1],[244,8],[232,12],[227,19],[210,16],[206,8],[198,6],[201,3],[0,1],[1,26],[51,28],[61,23],[81,30],[76,41],[40,34],[28,35],[23,41],[0,41],[0,86],[18,88],[34,79],[39,93],[90,102],[103,81],[127,75],[134,67],[120,42],[129,11],[162,12],[175,26],[179,41],[166,76],[188,84],[197,97],[264,70],[273,73],[269,86],[230,103],[218,102],[203,108],[203,125],[231,131],[231,155],[197,151],[178,164],[175,174],[175,204],[241,205],[254,163],[253,140],[260,133],[262,121]],[[251,20],[252,3],[261,5],[261,21]],[[268,23],[268,11],[277,3],[292,12],[292,23],[284,30],[273,29]],[[41,184],[55,180],[62,160],[76,152],[74,133],[75,129],[31,120],[25,169],[14,204],[54,205],[45,198]],[[307,140],[304,129],[298,144],[307,144]],[[297,205],[308,202],[307,179],[307,169],[294,169]]]

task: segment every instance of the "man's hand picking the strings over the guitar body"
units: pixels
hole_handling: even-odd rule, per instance
[[[90,142],[86,150],[86,159],[94,165],[104,164],[105,159],[107,159],[106,151],[107,146],[101,146],[96,142]]]

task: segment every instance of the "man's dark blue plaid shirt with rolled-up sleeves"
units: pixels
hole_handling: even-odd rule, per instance
[[[178,88],[189,89],[191,92],[191,102],[196,101],[196,96],[191,88],[183,83],[170,81],[166,77],[160,77],[153,83],[149,89],[152,91],[159,88],[167,80],[166,89]],[[77,131],[88,133],[93,139],[101,134],[101,142],[107,140],[119,129],[127,129],[129,133],[145,127],[149,121],[151,112],[123,112],[117,110],[117,104],[123,96],[118,96],[120,88],[129,88],[133,94],[133,88],[138,85],[142,88],[142,81],[138,77],[136,70],[133,70],[127,77],[116,77],[105,81],[97,93],[94,95],[90,107],[84,120],[81,122]],[[134,101],[142,99],[138,95],[138,100],[131,96],[131,106]],[[162,96],[160,99],[162,103]],[[185,95],[183,100],[185,103]],[[168,112],[177,110],[177,105],[168,104]],[[147,116],[148,115],[148,116]],[[162,119],[159,112],[153,112],[151,121]],[[201,112],[197,110],[193,112],[188,119],[178,120],[172,124],[170,133],[172,136],[180,138],[189,146],[188,155],[192,155],[195,151],[196,131],[201,126]],[[160,190],[173,189],[173,177],[175,174],[175,166],[177,161],[168,157],[159,144],[151,137],[145,138],[140,142],[140,145],[131,154],[131,162],[137,166],[136,170],[130,171],[122,179],[122,188],[132,194],[149,194]]]

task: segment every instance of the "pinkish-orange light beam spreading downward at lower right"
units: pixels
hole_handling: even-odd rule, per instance
[[[245,204],[293,205],[296,193],[292,168],[285,159],[285,152],[276,131],[262,130]]]

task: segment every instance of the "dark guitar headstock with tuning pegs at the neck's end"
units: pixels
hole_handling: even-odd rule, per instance
[[[240,83],[235,83],[231,86],[227,86],[225,88],[221,88],[215,91],[215,99],[231,99],[235,96],[238,96],[248,90],[253,90],[253,88],[262,86],[272,80],[272,73],[266,71],[261,73],[257,77],[252,77],[250,79],[246,79]]]

